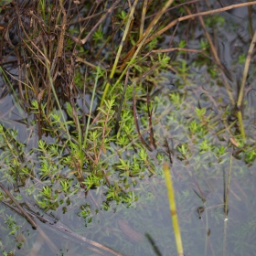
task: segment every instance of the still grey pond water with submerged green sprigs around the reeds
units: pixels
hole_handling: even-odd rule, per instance
[[[1,164],[1,182],[5,180],[5,187],[34,214],[38,225],[37,229],[32,229],[26,219],[0,204],[0,248],[3,253],[13,251],[8,255],[17,256],[176,255],[162,170],[163,163],[169,160],[169,146],[173,155],[171,173],[185,255],[256,255],[255,57],[251,60],[243,108],[247,139],[246,144],[238,145],[232,142],[234,136],[231,134],[239,137],[240,130],[234,123],[236,113],[230,95],[237,99],[243,72],[243,63],[240,64],[238,59],[242,53],[246,55],[251,43],[247,8],[219,16],[223,17],[224,25],[215,27],[214,33],[220,60],[227,69],[229,90],[219,71],[211,69],[208,63],[198,64],[197,55],[186,55],[189,69],[184,75],[163,73],[163,80],[152,99],[156,149],[147,152],[150,164],[140,164],[139,176],[127,178],[122,172],[112,174],[112,180],[122,184],[122,193],[129,192],[127,203],[106,200],[107,188],[104,186],[90,189],[85,196],[74,182],[72,193],[59,193],[55,210],[44,212],[38,208],[37,188],[32,187],[51,186],[54,190],[59,185],[52,184],[50,179],[39,178],[42,162],[37,158],[37,152],[33,152],[38,137],[32,114],[18,108],[11,93],[0,100],[0,123],[5,129],[16,128],[17,141],[26,144],[27,163],[33,160],[33,169],[37,172],[35,179],[27,177],[25,187],[12,187],[11,181],[5,179],[5,163]],[[179,29],[182,30],[182,25]],[[187,41],[187,48],[197,48],[202,40],[202,28],[195,30],[195,37]],[[175,38],[175,41],[179,40],[180,37]],[[176,56],[180,65],[182,59],[185,59],[183,53]],[[3,80],[1,84],[4,91]],[[147,137],[143,104],[138,103],[138,116],[142,134]],[[55,138],[49,136],[43,139],[48,143],[55,142]],[[110,172],[116,168],[120,155],[132,166],[134,155],[138,154],[132,147],[122,153],[119,150],[118,145],[112,144],[112,150],[103,155],[102,161]],[[117,153],[113,154],[115,151]],[[52,161],[63,173],[69,173],[63,163],[56,164],[58,157]],[[133,186],[125,187],[128,183]],[[10,204],[3,195],[2,200]],[[16,231],[10,234],[12,230]]]

